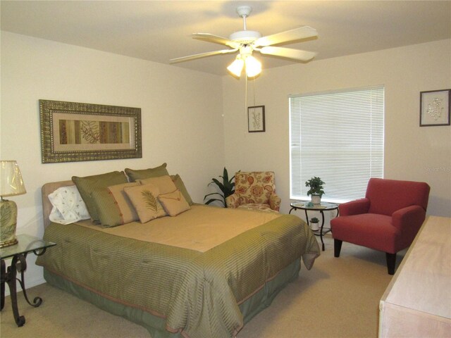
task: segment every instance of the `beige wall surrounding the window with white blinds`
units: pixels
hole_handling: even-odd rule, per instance
[[[288,212],[288,94],[378,84],[385,86],[385,178],[428,182],[428,213],[451,216],[451,127],[419,127],[419,92],[451,88],[451,40],[264,69],[248,82],[247,103],[265,106],[262,133],[247,132],[245,81],[223,77],[228,169],[275,171]]]

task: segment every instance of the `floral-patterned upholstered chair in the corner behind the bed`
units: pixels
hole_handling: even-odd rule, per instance
[[[274,176],[272,171],[236,173],[235,192],[227,197],[227,207],[278,212],[280,197]]]

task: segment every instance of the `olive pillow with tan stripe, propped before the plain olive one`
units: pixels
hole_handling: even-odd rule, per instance
[[[103,227],[116,227],[139,220],[135,208],[124,191],[126,187],[134,187],[138,184],[130,182],[94,189],[91,197]]]

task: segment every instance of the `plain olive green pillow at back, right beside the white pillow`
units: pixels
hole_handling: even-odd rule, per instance
[[[85,204],[87,206],[87,211],[89,211],[89,215],[91,215],[92,221],[94,223],[100,223],[96,206],[93,203],[91,197],[91,193],[94,191],[94,189],[106,188],[110,185],[128,182],[127,177],[125,176],[123,171],[113,171],[111,173],[85,177],[73,176],[72,180],[77,186],[80,195],[82,195],[82,199],[83,201],[85,201]]]

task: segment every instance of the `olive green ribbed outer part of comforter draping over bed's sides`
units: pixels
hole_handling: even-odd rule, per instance
[[[38,265],[107,299],[166,318],[166,330],[192,338],[233,337],[243,325],[240,303],[299,258],[310,269],[320,252],[314,234],[295,215],[204,253],[76,224],[52,223],[44,239],[57,245],[37,258]]]

